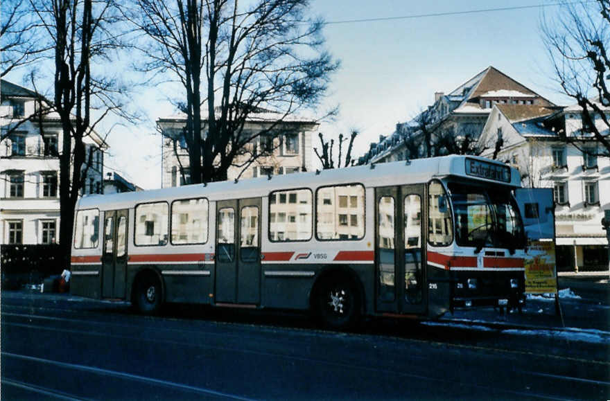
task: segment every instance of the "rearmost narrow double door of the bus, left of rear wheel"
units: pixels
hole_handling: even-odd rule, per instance
[[[104,212],[103,298],[125,298],[128,210]]]

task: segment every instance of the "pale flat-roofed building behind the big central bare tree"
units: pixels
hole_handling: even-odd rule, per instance
[[[247,179],[263,175],[291,174],[293,172],[311,171],[313,168],[312,134],[318,123],[306,118],[290,116],[281,123],[276,123],[279,114],[251,114],[243,127],[243,134],[256,135],[257,132],[269,130],[273,125],[273,134],[261,134],[251,143],[251,152],[265,154],[249,166],[241,166],[242,159],[234,161],[229,168],[227,179]],[[202,136],[207,135],[205,121],[202,122]],[[157,120],[157,127],[162,132],[162,188],[182,186],[190,183],[189,154],[182,130],[186,125],[186,116],[178,114]],[[174,149],[174,141],[176,148]],[[268,152],[270,150],[270,152]],[[181,174],[181,168],[184,175]]]

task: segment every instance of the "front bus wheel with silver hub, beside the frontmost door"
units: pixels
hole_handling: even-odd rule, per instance
[[[317,317],[326,328],[353,328],[360,319],[360,292],[347,277],[325,278],[317,287],[314,302]]]

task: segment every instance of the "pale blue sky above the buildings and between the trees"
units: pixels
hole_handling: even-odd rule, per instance
[[[334,121],[322,123],[320,132],[331,138],[358,130],[352,152],[358,157],[379,135],[391,134],[397,123],[431,105],[436,91],[453,91],[488,66],[553,103],[569,104],[552,81],[539,29],[545,13],[557,12],[556,3],[312,0],[313,15],[328,23],[324,28],[326,48],[341,62],[319,109],[322,114],[338,105],[340,113]],[[476,12],[541,4],[546,6]],[[451,14],[456,12],[459,14]],[[362,19],[383,20],[354,21]],[[6,78],[19,84],[22,73],[15,71]],[[162,140],[155,121],[175,113],[167,98],[178,95],[166,91],[167,87],[154,87],[134,93],[134,104],[146,116],[137,125],[107,123],[112,130],[105,172],[119,172],[145,189],[161,186]]]

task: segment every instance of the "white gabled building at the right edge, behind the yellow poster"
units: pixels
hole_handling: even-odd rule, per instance
[[[595,123],[608,134],[600,118]],[[553,188],[558,270],[607,270],[601,220],[610,208],[610,157],[593,134],[583,134],[580,107],[496,105],[480,141],[500,135],[498,159],[519,168],[523,186]],[[493,156],[492,150],[483,156]]]

